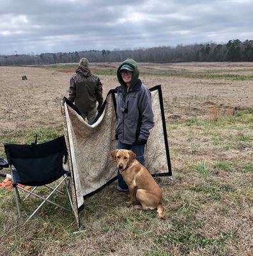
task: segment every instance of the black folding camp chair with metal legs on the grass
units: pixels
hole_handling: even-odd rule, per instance
[[[70,211],[66,207],[49,200],[50,196],[54,193],[62,193],[59,191],[59,187],[62,184],[66,184],[66,193],[68,194],[68,199],[70,200],[70,205],[73,209],[69,189],[70,173],[63,168],[63,163],[66,163],[67,161],[64,136],[41,144],[37,144],[36,142],[31,143],[31,145],[5,143],[4,150],[8,164],[10,165],[11,179],[13,180],[12,186],[15,191],[15,201],[19,217],[21,217],[19,189],[27,192],[27,196],[34,195],[42,199],[42,203],[38,205],[25,223],[33,217],[45,202],[49,202],[66,211]],[[65,162],[63,162],[63,157],[65,157]],[[52,182],[54,182],[54,188],[52,187],[53,185],[48,185]],[[26,189],[26,187],[19,186],[18,184],[32,186],[33,189]],[[42,196],[39,195],[39,193],[36,193],[38,190],[42,191],[42,189],[36,190],[38,186],[46,186],[50,191],[49,195]],[[45,189],[43,193],[45,193]]]

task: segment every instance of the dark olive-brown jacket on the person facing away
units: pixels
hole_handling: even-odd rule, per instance
[[[70,79],[69,100],[75,103],[79,111],[87,112],[103,103],[103,88],[99,77],[93,75],[88,67],[79,65]]]

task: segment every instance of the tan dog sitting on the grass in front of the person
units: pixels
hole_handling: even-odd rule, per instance
[[[135,159],[134,152],[116,149],[111,155],[129,188],[130,201],[127,204],[137,203],[139,204],[135,205],[137,209],[157,209],[158,216],[165,219],[162,191],[150,172]]]

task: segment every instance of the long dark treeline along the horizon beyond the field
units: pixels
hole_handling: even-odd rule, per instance
[[[82,57],[90,62],[121,62],[128,57],[138,62],[185,61],[253,61],[253,40],[229,40],[227,44],[194,44],[176,47],[160,46],[114,51],[80,51],[34,54],[0,55],[0,65],[43,65],[77,63]]]

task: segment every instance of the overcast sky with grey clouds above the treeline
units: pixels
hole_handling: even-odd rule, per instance
[[[0,0],[0,54],[253,40],[253,0]]]

